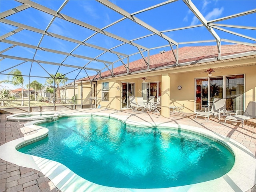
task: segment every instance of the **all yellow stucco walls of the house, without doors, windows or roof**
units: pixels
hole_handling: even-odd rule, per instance
[[[248,63],[248,66],[239,66],[240,64]],[[254,63],[254,65],[251,65]],[[218,67],[226,67],[222,68],[218,71],[216,68]],[[237,66],[232,67],[230,66]],[[109,101],[99,100],[98,104],[102,106],[102,108],[120,110],[121,109],[121,82],[132,82],[135,83],[135,96],[142,96],[142,77],[146,76],[150,80],[146,80],[146,82],[157,82],[162,81],[162,74],[168,74],[170,77],[170,93],[168,93],[169,97],[162,102],[165,102],[166,106],[182,106],[184,105],[184,112],[194,113],[195,112],[195,97],[196,97],[196,78],[208,78],[207,73],[204,71],[208,68],[214,68],[216,72],[212,75],[212,77],[220,77],[220,76],[228,76],[228,75],[236,75],[236,74],[244,74],[245,78],[245,94],[244,94],[244,109],[246,108],[248,102],[255,101],[256,95],[256,65],[255,59],[249,60],[235,60],[232,62],[225,62],[221,64],[212,64],[208,66],[193,66],[189,68],[177,68],[177,69],[168,69],[156,72],[146,72],[143,74],[136,74],[131,76],[122,76],[118,78],[109,78],[105,80],[99,80],[97,82],[97,92],[96,96],[98,98],[102,97],[102,82],[109,82]],[[178,86],[182,86],[181,90],[178,90]],[[120,88],[118,90],[117,88]],[[78,86],[78,93],[79,93]],[[162,93],[163,94],[163,93]],[[79,94],[78,94],[79,98]],[[168,100],[169,98],[169,100]]]

